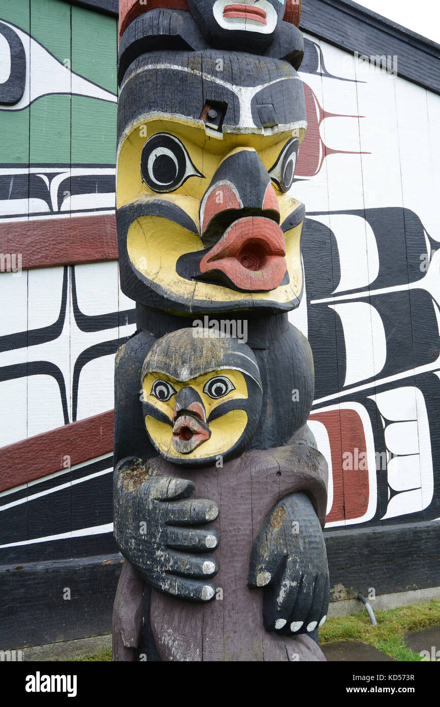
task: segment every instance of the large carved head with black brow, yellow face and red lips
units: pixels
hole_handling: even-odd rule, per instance
[[[174,312],[292,310],[302,295],[306,129],[295,69],[223,52],[145,54],[118,110],[123,291]]]

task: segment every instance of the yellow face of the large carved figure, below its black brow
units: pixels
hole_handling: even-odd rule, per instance
[[[119,238],[131,269],[170,310],[297,306],[305,212],[285,189],[301,132],[218,139],[163,117],[139,121],[124,136]]]

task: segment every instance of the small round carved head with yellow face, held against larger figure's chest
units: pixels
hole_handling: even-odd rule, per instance
[[[143,415],[160,455],[208,466],[249,447],[261,414],[261,378],[249,346],[179,329],[153,344],[142,369]]]

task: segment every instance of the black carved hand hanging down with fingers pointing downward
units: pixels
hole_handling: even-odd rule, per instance
[[[264,587],[266,631],[310,633],[326,620],[326,546],[305,493],[283,498],[266,516],[251,551],[248,584]]]

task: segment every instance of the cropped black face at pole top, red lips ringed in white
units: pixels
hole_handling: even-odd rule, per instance
[[[263,51],[273,42],[286,0],[188,0],[189,9],[213,47]]]

